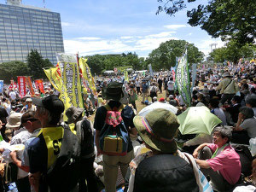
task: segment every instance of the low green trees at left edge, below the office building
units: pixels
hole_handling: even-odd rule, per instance
[[[9,61],[0,64],[1,80],[8,83],[10,79],[15,79],[17,76],[26,76],[29,74],[27,64],[22,61]]]

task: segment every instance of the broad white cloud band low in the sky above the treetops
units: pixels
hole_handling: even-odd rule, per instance
[[[103,39],[103,38],[73,38],[64,39],[65,51],[68,54],[77,53],[80,55],[95,55],[95,54],[108,54],[108,53],[123,53],[127,51],[145,51],[151,52],[153,49],[159,47],[161,43],[164,43],[171,39],[177,39],[172,37],[174,32],[160,32],[157,34],[150,34],[144,37],[125,36]]]

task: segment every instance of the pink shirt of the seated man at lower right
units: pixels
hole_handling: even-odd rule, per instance
[[[214,152],[218,145],[207,144]],[[230,145],[226,146],[216,157],[207,160],[214,172],[218,171],[230,184],[236,184],[241,175],[241,162],[239,154],[236,154],[234,148]]]

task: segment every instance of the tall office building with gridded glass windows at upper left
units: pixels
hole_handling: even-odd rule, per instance
[[[0,4],[0,63],[26,61],[31,49],[56,64],[55,53],[64,52],[60,14],[21,0]]]

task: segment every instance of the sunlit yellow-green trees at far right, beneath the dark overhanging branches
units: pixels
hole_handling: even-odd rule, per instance
[[[240,58],[253,58],[256,55],[255,44],[244,44],[240,46],[236,41],[231,40],[222,48],[213,49],[210,56],[215,62],[232,61],[237,63]]]

